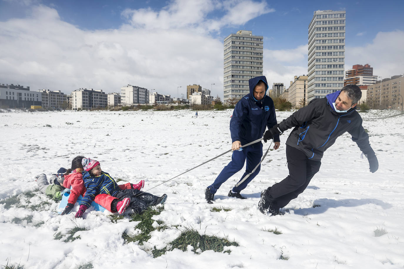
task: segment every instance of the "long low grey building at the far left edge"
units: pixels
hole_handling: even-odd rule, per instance
[[[24,88],[23,85],[0,85],[0,107],[30,108],[31,106],[42,106],[40,92],[31,91],[29,87]]]

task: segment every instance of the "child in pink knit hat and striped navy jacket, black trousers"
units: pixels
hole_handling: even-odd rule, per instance
[[[76,217],[82,217],[98,194],[109,194],[125,201],[129,198],[130,201],[128,201],[126,206],[130,205],[135,214],[141,214],[149,206],[164,204],[167,199],[167,194],[158,197],[137,189],[120,189],[119,185],[116,184],[115,180],[108,173],[101,171],[100,163],[96,160],[83,158],[82,166],[84,169],[82,174],[86,193],[80,202],[80,208],[77,211]]]

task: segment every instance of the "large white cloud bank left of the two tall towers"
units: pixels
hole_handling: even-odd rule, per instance
[[[250,7],[252,6],[252,7]],[[222,18],[207,19],[220,8],[232,26],[266,12],[265,2],[170,2],[162,10],[125,10],[128,19],[118,29],[82,30],[61,21],[57,11],[32,7],[24,19],[0,22],[0,83],[49,88],[70,93],[78,88],[120,92],[126,84],[177,96],[177,86],[200,84],[223,95]],[[236,21],[238,8],[261,11]],[[217,32],[213,32],[217,34]]]

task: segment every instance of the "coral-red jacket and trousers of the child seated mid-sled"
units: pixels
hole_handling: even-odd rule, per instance
[[[77,202],[78,196],[84,196],[86,188],[84,187],[83,175],[80,172],[73,170],[69,175],[65,175],[65,180],[63,181],[63,187],[70,188],[70,195],[67,202],[70,204],[75,204]],[[132,184],[126,183],[119,185],[121,190],[132,189]],[[98,194],[95,196],[94,202],[104,207],[108,211],[116,212],[116,209],[111,208],[111,203],[114,199],[118,199],[114,196],[108,194]]]

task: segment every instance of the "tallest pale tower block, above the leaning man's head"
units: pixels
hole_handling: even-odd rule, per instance
[[[307,100],[341,90],[345,65],[345,10],[317,10],[309,24]]]

